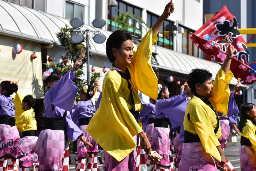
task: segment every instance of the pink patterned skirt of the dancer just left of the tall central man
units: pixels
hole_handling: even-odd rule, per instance
[[[79,128],[82,130],[84,137],[87,141],[89,141],[93,147],[88,145],[88,150],[86,149],[86,146],[83,142],[80,141],[80,139],[77,140],[77,154],[76,154],[76,160],[85,159],[87,156],[87,152],[98,152],[98,146],[97,142],[89,135],[89,133],[86,131],[87,125],[81,125]]]

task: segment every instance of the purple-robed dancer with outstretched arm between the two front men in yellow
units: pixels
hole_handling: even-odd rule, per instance
[[[182,92],[180,95],[172,96],[169,98],[169,90],[166,84],[159,82],[158,100],[155,103],[155,122],[152,137],[152,150],[163,156],[158,164],[154,164],[154,171],[157,169],[170,170],[173,168],[170,157],[170,129],[169,121],[172,123],[172,128],[177,128],[183,125],[185,110],[188,104],[187,92],[189,88]]]

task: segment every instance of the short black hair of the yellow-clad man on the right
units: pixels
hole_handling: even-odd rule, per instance
[[[204,84],[212,77],[212,73],[207,69],[192,69],[188,74],[188,86],[191,88],[191,93],[193,94],[196,91],[196,83]]]

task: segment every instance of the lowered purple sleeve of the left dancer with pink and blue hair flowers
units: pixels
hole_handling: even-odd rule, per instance
[[[75,141],[80,135],[83,136],[83,132],[72,121],[70,115],[68,115],[68,117],[66,118],[65,133],[71,141]]]

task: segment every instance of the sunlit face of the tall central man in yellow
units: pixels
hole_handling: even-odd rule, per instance
[[[125,41],[119,50],[116,50],[113,54],[116,56],[114,63],[121,64],[123,66],[128,66],[132,62],[133,57],[133,44],[131,40]],[[115,49],[115,48],[113,48]]]

